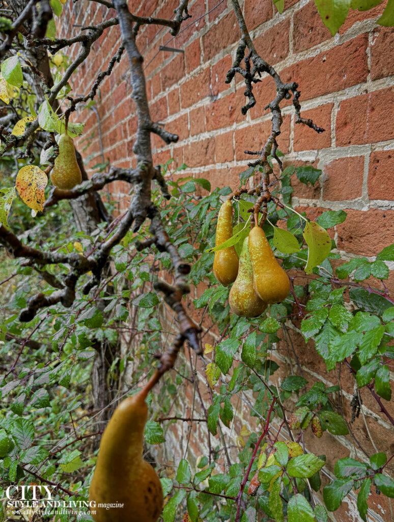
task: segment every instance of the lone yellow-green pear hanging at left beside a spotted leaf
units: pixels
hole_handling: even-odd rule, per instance
[[[69,191],[81,183],[82,174],[78,167],[72,138],[62,134],[59,138],[59,153],[51,172],[51,181],[57,188]]]

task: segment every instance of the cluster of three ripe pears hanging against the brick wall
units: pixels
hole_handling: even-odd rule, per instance
[[[232,206],[228,199],[221,205],[216,228],[215,246],[232,237]],[[242,243],[240,256],[229,246],[215,252],[213,271],[216,279],[227,286],[230,309],[243,317],[261,315],[267,304],[280,303],[290,291],[290,281],[277,262],[264,231],[253,227]]]

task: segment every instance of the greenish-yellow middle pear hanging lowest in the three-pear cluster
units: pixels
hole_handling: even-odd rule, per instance
[[[249,254],[249,238],[242,243],[238,276],[228,296],[231,312],[243,317],[261,315],[267,304],[260,299],[253,287],[253,268]]]

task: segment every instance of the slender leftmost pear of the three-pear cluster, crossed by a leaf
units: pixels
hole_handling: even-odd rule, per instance
[[[227,199],[221,205],[216,226],[215,246],[219,246],[228,239],[232,238],[232,206]],[[215,252],[213,271],[216,279],[227,286],[233,283],[238,274],[238,254],[233,246],[223,248]]]

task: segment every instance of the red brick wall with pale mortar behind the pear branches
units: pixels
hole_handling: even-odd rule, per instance
[[[82,9],[80,2],[67,3],[67,22],[71,19],[71,23],[90,25],[103,17],[115,16],[115,12],[108,14],[106,7],[95,3],[90,4],[90,12],[86,4]],[[140,31],[137,39],[145,57],[152,117],[165,124],[168,131],[179,134],[178,143],[170,146],[157,136],[152,138],[154,160],[160,163],[173,157],[178,164],[188,164],[190,175],[207,177],[213,186],[230,184],[235,188],[238,174],[245,170],[249,159],[243,151],[261,148],[270,132],[270,114],[264,106],[274,98],[275,85],[264,76],[254,87],[257,104],[247,117],[242,116],[240,108],[245,98],[241,78],[237,76],[236,82],[225,84],[239,41],[230,2],[191,0],[189,4],[192,18],[184,22],[176,38],[172,39],[167,30],[149,26]],[[137,9],[136,3],[132,5],[138,15],[169,17],[177,2],[145,0]],[[275,65],[282,80],[298,82],[302,115],[326,129],[317,135],[308,127],[295,125],[291,102],[284,102],[284,124],[278,143],[286,154],[286,163],[306,162],[323,170],[315,187],[293,181],[293,201],[311,218],[325,209],[346,210],[347,220],[336,227],[334,236],[342,257],[375,256],[394,242],[394,30],[376,25],[385,3],[364,13],[352,11],[334,38],[319,18],[313,0],[285,0],[285,7],[284,13],[279,14],[272,0],[243,2],[257,51]],[[78,31],[72,30],[74,34]],[[88,92],[99,68],[106,67],[119,44],[118,28],[106,30],[86,64],[71,79],[75,93]],[[182,49],[184,54],[158,51],[163,44]],[[96,105],[104,157],[124,167],[135,164],[132,145],[137,121],[130,95],[124,56],[103,82]],[[102,161],[97,117],[91,111],[84,111],[79,117],[86,121],[84,136],[94,133],[85,150],[92,166]],[[87,142],[83,140],[80,142],[85,146]],[[120,200],[120,208],[124,208],[128,202],[124,185],[116,183],[112,190]],[[392,276],[388,287],[394,290]],[[312,342],[305,346],[295,329],[291,330],[291,340],[310,384],[316,379],[338,383],[335,372],[327,375]],[[284,344],[278,346],[279,358],[284,348]],[[342,385],[346,387],[346,377]],[[348,413],[353,390],[346,389],[346,393],[344,408]],[[362,397],[371,436],[378,450],[388,450],[387,441],[393,440],[393,431],[364,389]],[[236,421],[237,432],[243,422],[241,417]],[[182,427],[174,429],[182,432]],[[357,419],[352,429],[360,443],[374,453],[364,420]],[[182,439],[178,431],[177,448]],[[200,432],[198,437],[206,440]],[[321,442],[311,438],[307,443],[322,453],[318,448]],[[181,444],[180,451],[182,447]],[[339,456],[363,457],[354,452],[350,438],[341,437],[339,441],[328,433],[324,450],[331,470]],[[388,520],[387,499],[376,496],[372,504],[372,509]],[[342,504],[336,518],[358,520],[355,513],[354,501],[349,500]]]

